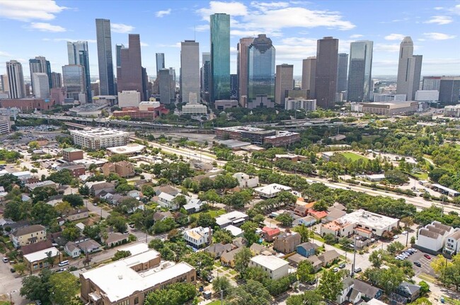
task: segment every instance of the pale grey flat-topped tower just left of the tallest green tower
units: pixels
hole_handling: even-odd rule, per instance
[[[180,42],[180,96],[182,102],[200,101],[200,44]]]

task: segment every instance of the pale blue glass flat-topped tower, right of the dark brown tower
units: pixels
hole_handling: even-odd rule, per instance
[[[347,100],[369,102],[372,92],[372,49],[374,42],[361,40],[350,44]]]

